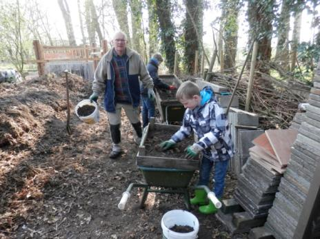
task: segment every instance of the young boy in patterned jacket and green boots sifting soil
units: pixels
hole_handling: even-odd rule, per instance
[[[198,185],[208,186],[210,171],[214,165],[214,194],[222,198],[224,180],[228,162],[233,156],[233,145],[226,114],[214,100],[211,87],[199,87],[191,81],[182,83],[177,90],[177,100],[187,108],[183,116],[183,125],[169,141],[160,144],[163,150],[174,147],[192,131],[197,136],[197,143],[186,148],[186,158],[194,158],[202,152],[202,162]],[[202,205],[199,211],[203,214],[214,214],[217,208],[210,201],[206,204],[206,191],[196,189],[190,200],[192,205]]]

